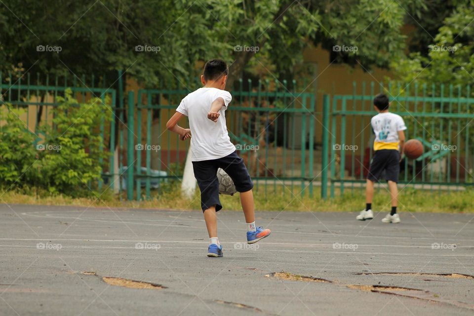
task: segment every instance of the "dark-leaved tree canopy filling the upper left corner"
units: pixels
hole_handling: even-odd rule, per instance
[[[179,13],[172,1],[10,0],[2,3],[0,70],[3,73],[23,69],[34,75],[73,73],[79,79],[82,75],[90,78],[96,74],[109,87],[117,80],[118,70],[126,71],[146,85],[154,85],[160,78],[172,77],[166,68],[180,68],[174,64],[172,54],[161,52],[161,48],[173,44],[173,39],[166,36],[168,26]],[[42,51],[38,50],[39,45],[43,46]],[[137,51],[137,45],[158,48]],[[105,78],[99,78],[104,75]]]

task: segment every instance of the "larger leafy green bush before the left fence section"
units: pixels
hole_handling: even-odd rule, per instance
[[[53,110],[53,127],[43,124],[47,135],[35,163],[40,176],[37,186],[50,193],[71,196],[89,195],[89,183],[100,179],[102,161],[109,154],[103,151],[104,140],[99,126],[110,118],[111,109],[101,99],[94,98],[78,104],[71,90],[58,97],[59,106]]]

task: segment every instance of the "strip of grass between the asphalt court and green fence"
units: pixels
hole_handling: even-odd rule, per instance
[[[344,196],[322,200],[318,188],[315,188],[313,197],[308,192],[304,196],[299,186],[293,190],[288,187],[260,185],[254,190],[255,207],[257,210],[271,211],[360,211],[365,207],[363,189],[348,191]],[[43,205],[75,205],[85,207],[128,207],[153,209],[200,209],[199,191],[191,199],[181,195],[180,184],[170,183],[159,191],[153,192],[149,200],[126,201],[124,196],[118,197],[106,191],[97,193],[92,198],[72,198],[64,195],[49,196],[29,195],[15,191],[0,191],[0,202],[8,204],[43,204]],[[240,210],[240,199],[235,196],[220,196],[224,210]],[[473,213],[472,201],[474,191],[438,192],[404,189],[399,196],[398,209],[400,212],[445,212],[445,213]],[[390,195],[384,188],[376,190],[372,207],[377,211],[390,211]]]

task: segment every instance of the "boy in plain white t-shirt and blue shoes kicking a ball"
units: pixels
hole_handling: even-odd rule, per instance
[[[203,87],[188,94],[166,123],[166,128],[178,133],[182,140],[191,137],[191,160],[210,238],[208,257],[223,256],[222,245],[217,238],[216,212],[222,208],[218,168],[229,174],[239,192],[247,223],[247,243],[257,242],[271,233],[269,229],[255,226],[253,183],[243,159],[237,156],[236,147],[227,133],[225,111],[232,101],[231,94],[224,90],[228,74],[229,68],[223,60],[212,59],[206,62],[201,76]],[[177,125],[183,116],[189,119],[189,129]]]

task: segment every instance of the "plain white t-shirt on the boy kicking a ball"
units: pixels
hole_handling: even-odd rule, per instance
[[[211,104],[217,98],[224,99],[217,122],[207,118]],[[176,111],[189,119],[191,129],[191,161],[211,160],[226,157],[236,151],[227,133],[225,111],[232,96],[217,88],[199,88],[188,94]]]

